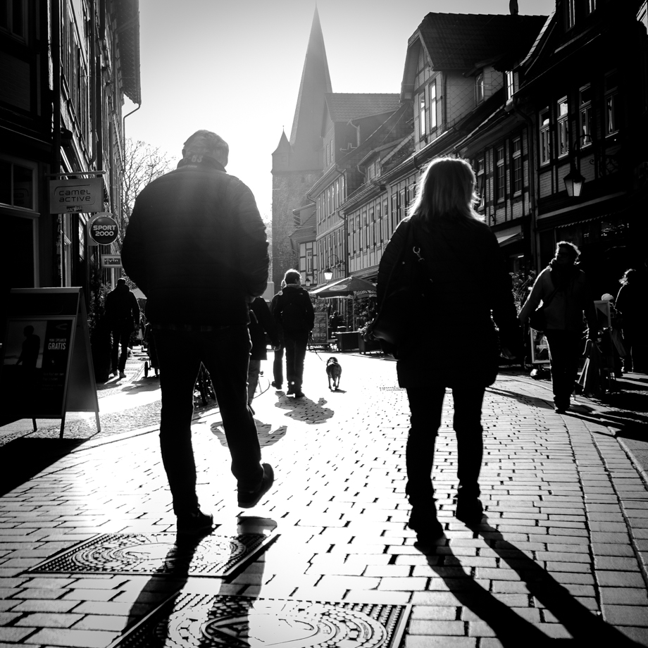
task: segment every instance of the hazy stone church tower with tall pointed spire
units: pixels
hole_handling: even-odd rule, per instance
[[[275,292],[289,268],[297,268],[289,235],[294,232],[292,214],[306,202],[306,192],[323,173],[322,120],[324,95],[332,92],[320,16],[315,9],[290,140],[282,132],[273,153],[273,276]]]

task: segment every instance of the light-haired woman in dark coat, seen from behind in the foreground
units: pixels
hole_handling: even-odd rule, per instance
[[[476,199],[475,174],[467,161],[432,160],[378,271],[378,304],[382,304],[386,293],[407,282],[420,285],[412,272],[418,265],[415,250],[425,260],[421,297],[404,315],[412,335],[399,342],[396,352],[399,386],[407,390],[411,412],[406,446],[408,525],[419,542],[437,540],[444,532],[437,519],[431,473],[446,388],[454,399],[459,455],[455,515],[477,525],[483,513],[478,482],[482,400],[499,364],[493,319],[508,357],[516,354],[521,342],[511,277],[495,235],[473,209]]]

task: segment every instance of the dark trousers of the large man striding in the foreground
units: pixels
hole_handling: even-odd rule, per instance
[[[156,329],[154,337],[162,388],[160,445],[175,514],[198,507],[191,423],[201,361],[216,392],[237,485],[242,490],[256,489],[263,468],[256,425],[247,406],[251,349],[247,325],[208,332]]]

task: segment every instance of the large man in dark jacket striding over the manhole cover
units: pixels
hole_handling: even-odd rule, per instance
[[[254,506],[273,483],[247,404],[249,303],[266,289],[268,242],[251,191],[225,171],[228,154],[216,133],[189,137],[177,168],[137,197],[122,249],[125,271],[147,295],[161,370],[162,459],[180,533],[213,528],[196,494],[191,437],[201,362],[220,404],[238,505]]]

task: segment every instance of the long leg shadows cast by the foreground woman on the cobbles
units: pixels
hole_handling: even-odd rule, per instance
[[[482,522],[471,528],[475,537],[482,536],[485,542],[499,556],[502,564],[518,573],[529,594],[556,618],[573,638],[556,640],[544,632],[542,625],[532,623],[497,599],[495,594],[474,580],[470,573],[454,568],[461,566],[461,556],[452,553],[451,547],[415,546],[426,556],[432,571],[443,580],[454,597],[475,616],[484,621],[505,647],[519,647],[529,644],[534,647],[554,646],[556,641],[569,646],[611,645],[629,648],[639,646],[628,639],[621,631],[603,621],[601,616],[587,609],[566,587],[561,585],[544,568],[530,559],[514,544],[504,539],[501,532]],[[443,556],[440,561],[440,556]],[[461,576],[461,578],[457,578]],[[552,623],[547,623],[549,630]]]

